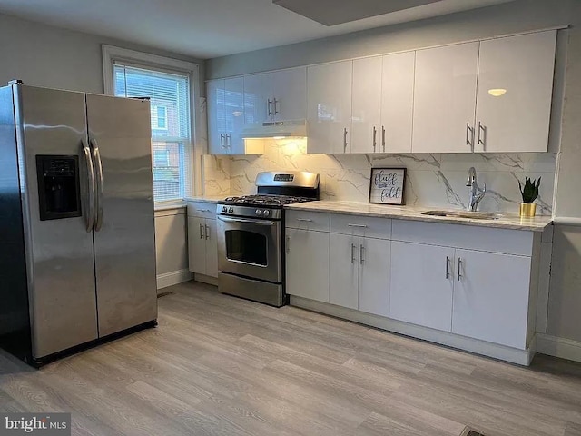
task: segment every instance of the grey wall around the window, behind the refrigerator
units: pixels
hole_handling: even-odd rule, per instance
[[[25,84],[103,94],[103,64],[101,45],[116,45],[145,53],[173,57],[201,65],[203,62],[180,54],[164,53],[149,47],[134,45],[68,31],[48,25],[0,15],[0,86],[11,79]],[[204,89],[204,86],[201,86]],[[162,283],[187,272],[185,215],[156,216],[158,276]],[[159,213],[156,213],[159,215]],[[173,274],[173,275],[172,275]]]

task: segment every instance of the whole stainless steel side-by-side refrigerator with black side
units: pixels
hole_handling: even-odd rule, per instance
[[[0,88],[0,346],[33,364],[157,318],[147,100]]]

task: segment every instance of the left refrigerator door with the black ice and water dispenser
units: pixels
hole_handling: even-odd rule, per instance
[[[14,85],[33,357],[97,338],[84,94]]]

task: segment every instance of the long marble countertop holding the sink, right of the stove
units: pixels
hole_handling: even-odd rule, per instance
[[[546,215],[538,215],[533,218],[521,218],[518,213],[501,213],[500,217],[497,219],[482,220],[460,218],[455,216],[422,215],[422,213],[426,211],[447,210],[442,207],[392,206],[387,204],[369,204],[344,201],[298,203],[287,205],[285,208],[297,211],[347,213],[350,215],[377,216],[395,220],[426,221],[429,223],[478,225],[482,227],[526,230],[530,232],[543,232],[548,225],[553,223],[553,218]]]

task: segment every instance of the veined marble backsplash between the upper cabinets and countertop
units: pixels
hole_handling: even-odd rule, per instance
[[[468,168],[487,194],[478,210],[517,212],[521,203],[518,180],[542,177],[537,213],[551,214],[556,154],[306,154],[306,140],[262,140],[260,156],[203,155],[204,195],[255,193],[257,173],[300,170],[320,173],[323,200],[368,202],[372,167],[407,168],[405,202],[438,208],[466,208]]]

